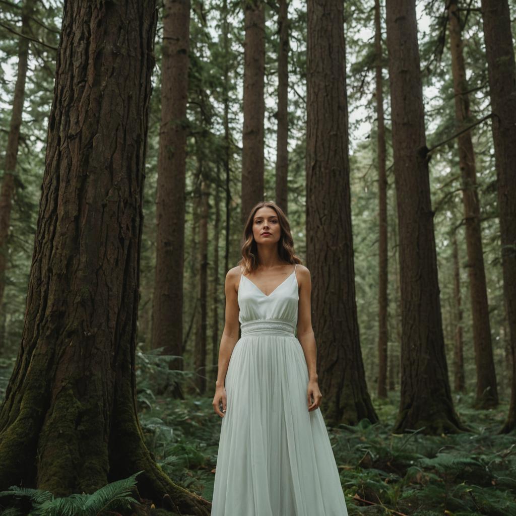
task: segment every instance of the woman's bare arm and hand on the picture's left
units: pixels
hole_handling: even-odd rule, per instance
[[[215,396],[213,398],[213,408],[220,417],[224,417],[226,410],[225,375],[228,371],[231,353],[238,342],[238,313],[240,309],[238,307],[236,284],[239,278],[239,267],[230,269],[225,277],[225,324],[220,339],[218,373],[217,381],[215,382]],[[222,404],[222,411],[219,407],[220,404]]]

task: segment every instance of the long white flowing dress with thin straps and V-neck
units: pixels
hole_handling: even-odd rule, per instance
[[[308,410],[296,267],[268,296],[240,277],[212,516],[348,514],[321,411]]]

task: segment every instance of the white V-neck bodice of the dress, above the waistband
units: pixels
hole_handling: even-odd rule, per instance
[[[294,271],[285,278],[268,296],[249,278],[240,276],[238,285],[238,307],[240,324],[256,320],[278,320],[297,326],[299,286]]]

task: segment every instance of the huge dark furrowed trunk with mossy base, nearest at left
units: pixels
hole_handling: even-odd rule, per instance
[[[65,2],[25,326],[0,409],[0,489],[92,492],[143,470],[142,496],[207,514],[157,466],[136,412],[156,13]]]

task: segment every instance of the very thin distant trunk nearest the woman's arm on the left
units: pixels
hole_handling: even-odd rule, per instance
[[[220,220],[220,166],[217,162],[217,177],[215,184],[215,222],[213,224],[213,280],[212,280],[212,310],[213,310],[213,323],[212,323],[212,368],[211,368],[211,380],[212,385],[215,385],[217,380],[217,368],[218,368],[218,355],[219,355],[219,304],[220,296],[219,289],[220,278],[219,278],[219,233],[221,231],[221,220]],[[220,313],[223,313],[220,311]],[[215,389],[215,387],[214,387]]]

